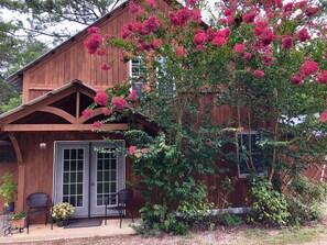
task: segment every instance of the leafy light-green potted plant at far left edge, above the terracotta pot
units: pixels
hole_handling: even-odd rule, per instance
[[[2,183],[0,185],[0,196],[3,197],[6,212],[13,212],[14,201],[17,200],[17,183],[12,178],[12,172],[6,172],[1,179]]]

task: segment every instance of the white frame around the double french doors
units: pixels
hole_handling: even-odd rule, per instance
[[[119,146],[122,146],[122,147],[126,147],[126,141],[124,140],[113,140],[117,145]],[[91,180],[91,157],[94,155],[94,146],[95,145],[101,145],[101,144],[108,144],[109,146],[110,145],[113,145],[112,143],[107,143],[106,141],[101,141],[101,140],[84,140],[84,141],[54,141],[54,157],[53,157],[53,194],[52,194],[52,200],[54,201],[54,204],[55,204],[55,201],[58,202],[58,197],[57,197],[57,192],[58,192],[58,186],[57,185],[62,185],[62,182],[59,182],[58,178],[57,178],[57,175],[59,174],[57,171],[57,168],[58,168],[58,152],[57,152],[57,147],[58,145],[80,145],[80,146],[86,146],[87,145],[87,149],[88,149],[88,154],[86,153],[86,162],[88,162],[88,169],[87,169],[87,178],[88,178],[88,187],[87,187],[87,199],[88,199],[88,208],[87,208],[87,214],[85,215],[78,215],[78,216],[74,216],[73,218],[91,218],[91,190],[90,190],[90,180]],[[126,188],[126,157],[122,156],[121,157],[121,162],[122,164],[122,168],[121,168],[121,175],[122,175],[122,178],[121,178],[121,187],[122,188]],[[96,163],[94,163],[96,164]],[[118,179],[117,179],[118,181]],[[105,212],[103,212],[105,214]],[[112,214],[112,215],[118,215],[118,213],[116,214]],[[97,214],[97,215],[92,215],[92,216],[101,216],[100,214]]]

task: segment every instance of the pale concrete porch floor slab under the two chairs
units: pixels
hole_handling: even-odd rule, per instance
[[[140,220],[135,220],[138,224]],[[18,233],[13,231],[13,234],[0,237],[0,244],[3,243],[20,243],[20,242],[46,242],[55,240],[69,240],[69,238],[80,238],[80,237],[94,237],[94,236],[117,236],[117,235],[132,235],[135,234],[134,230],[129,226],[132,224],[131,219],[123,219],[121,229],[119,227],[119,219],[107,220],[107,225],[105,225],[105,220],[100,226],[91,227],[74,227],[64,229],[57,227],[53,224],[53,230],[51,230],[51,224],[31,224],[30,234],[28,234],[26,229],[23,233]]]

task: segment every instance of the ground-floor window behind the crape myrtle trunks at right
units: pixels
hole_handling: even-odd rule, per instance
[[[237,135],[239,177],[248,177],[251,166],[255,168],[259,175],[264,174],[264,155],[262,148],[259,146],[262,134],[257,131],[242,132]]]

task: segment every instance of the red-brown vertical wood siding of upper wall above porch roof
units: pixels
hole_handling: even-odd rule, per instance
[[[167,3],[162,2],[161,7],[168,9]],[[120,36],[123,24],[132,19],[129,9],[113,13],[99,27],[102,34]],[[112,69],[102,70],[101,65],[120,57],[121,49],[109,49],[105,56],[88,54],[84,42],[89,35],[86,33],[76,41],[56,51],[40,64],[24,71],[23,102],[37,98],[40,94],[59,88],[74,79],[96,88],[103,89],[112,87],[126,80],[129,76],[129,63],[115,63]]]

